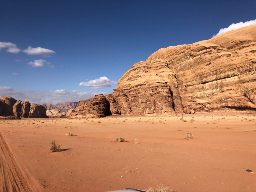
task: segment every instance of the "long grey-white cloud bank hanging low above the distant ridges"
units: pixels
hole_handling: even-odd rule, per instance
[[[88,98],[93,98],[96,94],[107,94],[105,92],[84,92],[84,91],[67,91],[65,89],[60,90],[49,90],[49,91],[16,91],[12,87],[0,87],[0,96],[12,97],[16,100],[29,101],[31,103],[63,103],[63,102],[76,102],[80,100],[85,100]]]

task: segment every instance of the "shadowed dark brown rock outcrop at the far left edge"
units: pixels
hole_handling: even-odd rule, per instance
[[[18,118],[48,118],[45,107],[42,105],[12,97],[0,97],[0,116],[10,115]]]

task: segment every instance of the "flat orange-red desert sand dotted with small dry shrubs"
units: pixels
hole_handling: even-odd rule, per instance
[[[256,191],[256,116],[182,116],[0,120],[0,191]]]

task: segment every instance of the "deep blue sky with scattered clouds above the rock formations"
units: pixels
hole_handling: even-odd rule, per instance
[[[254,20],[255,7],[256,1],[1,1],[0,42],[20,51],[0,45],[0,96],[56,104],[111,93],[134,63]]]

